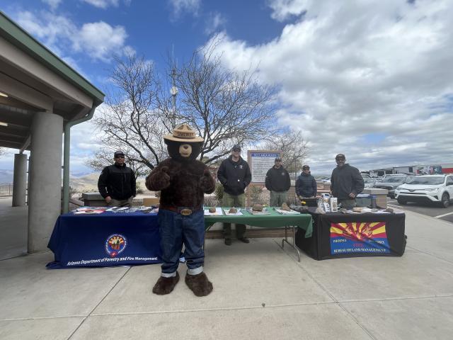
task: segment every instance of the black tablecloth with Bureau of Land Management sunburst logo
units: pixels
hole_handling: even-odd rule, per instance
[[[296,245],[316,260],[356,256],[402,256],[406,249],[404,214],[316,214],[311,237],[298,229]]]

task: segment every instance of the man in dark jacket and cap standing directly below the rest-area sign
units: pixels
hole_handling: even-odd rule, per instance
[[[268,170],[265,186],[270,191],[271,207],[280,207],[283,202],[286,202],[291,180],[288,171],[282,166],[280,157],[275,159],[275,165]]]

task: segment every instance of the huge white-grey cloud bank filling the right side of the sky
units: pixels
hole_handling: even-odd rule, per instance
[[[224,35],[218,52],[279,85],[278,122],[304,132],[314,173],[328,173],[340,152],[363,170],[452,162],[449,4],[270,1],[276,20],[296,21],[263,45]]]

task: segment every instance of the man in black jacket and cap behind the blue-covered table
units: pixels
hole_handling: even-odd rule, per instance
[[[99,176],[98,190],[110,207],[130,207],[136,195],[135,174],[125,164],[125,154],[113,154],[115,164],[105,166]]]

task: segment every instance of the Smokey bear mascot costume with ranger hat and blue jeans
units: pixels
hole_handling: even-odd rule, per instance
[[[164,295],[175,288],[184,244],[188,266],[185,283],[195,295],[205,296],[212,292],[212,283],[203,272],[203,197],[214,192],[215,182],[207,166],[195,159],[203,139],[187,124],[178,126],[173,135],[165,135],[164,142],[170,158],[159,163],[146,180],[149,190],[161,191],[158,220],[163,264],[153,293]]]

